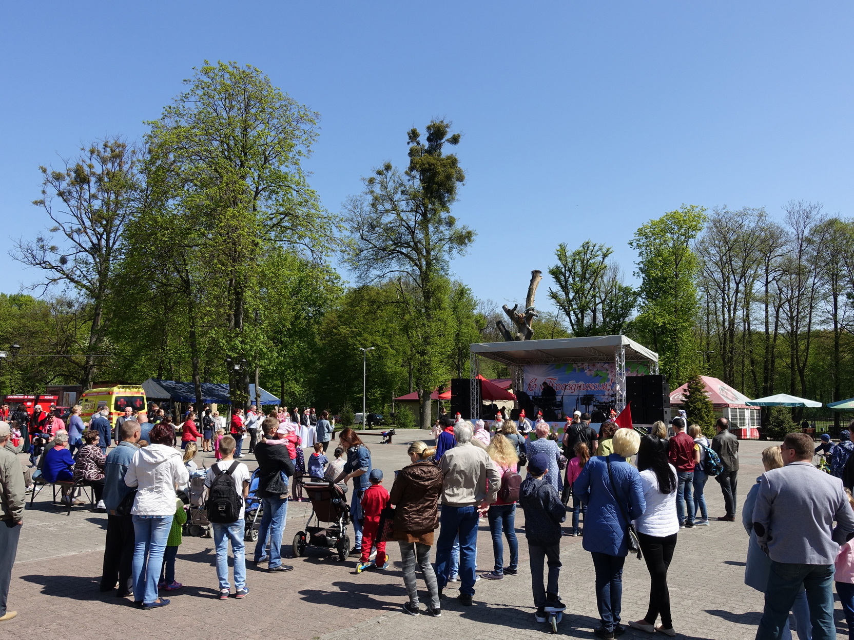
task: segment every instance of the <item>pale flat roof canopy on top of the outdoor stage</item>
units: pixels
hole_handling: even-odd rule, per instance
[[[588,338],[555,338],[553,340],[514,340],[512,342],[478,342],[471,353],[504,364],[561,364],[613,360],[622,345],[627,361],[658,362],[658,353],[639,345],[625,335],[594,335]]]

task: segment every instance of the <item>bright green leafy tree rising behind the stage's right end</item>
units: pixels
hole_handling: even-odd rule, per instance
[[[699,259],[691,243],[705,224],[705,209],[682,205],[650,220],[635,231],[629,246],[638,253],[640,314],[635,330],[658,352],[670,387],[677,387],[695,369],[693,335],[699,316]]]

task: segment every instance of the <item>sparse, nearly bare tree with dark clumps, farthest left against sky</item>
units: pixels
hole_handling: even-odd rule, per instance
[[[53,226],[50,235],[19,241],[12,257],[44,271],[44,289],[70,286],[82,296],[89,338],[80,384],[88,388],[108,330],[104,306],[114,293],[122,233],[137,211],[140,178],[137,150],[118,138],[80,151],[58,170],[39,167],[43,197],[33,204],[44,209]]]

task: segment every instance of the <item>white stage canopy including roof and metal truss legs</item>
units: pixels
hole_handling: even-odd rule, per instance
[[[626,362],[648,362],[658,374],[658,353],[647,349],[625,335],[594,335],[588,338],[555,338],[553,340],[514,340],[512,342],[478,342],[469,346],[471,355],[471,415],[479,415],[480,385],[477,383],[477,358],[483,357],[510,365],[512,388],[523,387],[525,364],[577,364],[613,360],[616,371],[617,411],[625,407]]]

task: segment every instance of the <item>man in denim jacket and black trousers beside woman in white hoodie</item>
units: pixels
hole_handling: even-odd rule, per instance
[[[133,592],[133,521],[131,510],[123,501],[132,491],[125,484],[127,467],[137,452],[139,422],[126,420],[119,428],[119,445],[107,456],[104,463],[104,506],[107,508],[107,540],[101,576],[101,591],[113,591],[116,596],[130,596]]]

